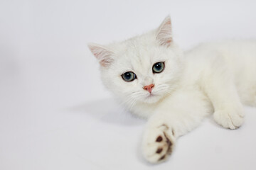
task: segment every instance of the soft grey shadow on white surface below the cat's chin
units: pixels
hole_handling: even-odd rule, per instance
[[[119,106],[114,98],[105,98],[97,101],[89,101],[78,106],[68,108],[73,113],[87,114],[106,123],[119,125],[142,125],[145,120],[137,118],[122,106]]]

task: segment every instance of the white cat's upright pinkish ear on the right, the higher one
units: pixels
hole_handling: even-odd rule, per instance
[[[161,23],[161,26],[157,29],[156,40],[159,41],[160,45],[169,47],[173,41],[171,36],[171,18],[167,16]]]

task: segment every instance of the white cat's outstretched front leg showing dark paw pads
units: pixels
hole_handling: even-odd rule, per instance
[[[156,108],[146,124],[142,141],[144,158],[151,163],[164,162],[174,150],[179,136],[196,128],[212,111],[200,91],[177,91]]]

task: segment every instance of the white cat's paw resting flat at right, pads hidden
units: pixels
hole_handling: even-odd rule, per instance
[[[244,122],[244,113],[242,111],[215,111],[213,118],[224,128],[234,130]]]

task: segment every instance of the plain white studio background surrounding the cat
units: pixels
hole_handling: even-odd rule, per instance
[[[124,40],[171,15],[174,40],[256,38],[256,1],[0,1],[0,169],[256,169],[256,108],[207,118],[164,164],[140,155],[144,120],[100,81],[87,42]],[[111,77],[110,77],[111,79]]]

